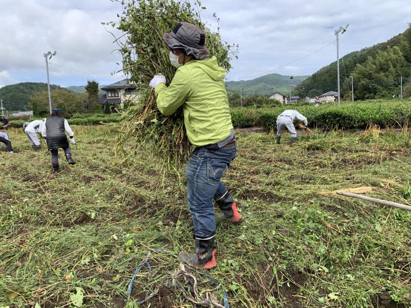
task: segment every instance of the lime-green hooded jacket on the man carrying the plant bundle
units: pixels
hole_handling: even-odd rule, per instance
[[[226,70],[216,57],[180,66],[169,87],[155,88],[158,110],[173,114],[183,106],[184,125],[191,144],[204,146],[227,138],[233,129],[226,85]]]

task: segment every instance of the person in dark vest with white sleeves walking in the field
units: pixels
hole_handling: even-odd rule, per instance
[[[67,162],[70,165],[76,164],[71,158],[71,149],[68,145],[66,132],[70,137],[70,142],[76,144],[73,138],[73,131],[66,119],[63,118],[63,113],[60,108],[53,109],[51,115],[44,120],[42,126],[42,136],[46,138],[47,148],[51,152],[51,165],[54,172],[60,171],[59,166],[59,148],[64,150]]]

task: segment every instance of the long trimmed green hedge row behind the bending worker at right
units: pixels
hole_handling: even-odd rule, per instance
[[[341,106],[326,104],[315,106],[289,105],[273,108],[232,108],[234,127],[276,126],[278,115],[286,109],[297,109],[305,115],[309,126],[325,129],[334,127],[366,128],[369,124],[381,127],[403,126],[411,120],[411,101],[378,101],[344,103]]]

